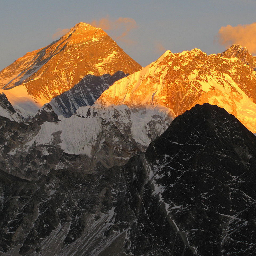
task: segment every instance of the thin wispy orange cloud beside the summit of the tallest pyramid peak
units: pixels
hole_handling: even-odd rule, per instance
[[[102,18],[100,20],[93,20],[91,22],[91,25],[93,27],[99,27],[103,30],[112,30],[116,33],[114,36],[114,39],[121,40],[125,42],[126,44],[134,44],[135,42],[127,39],[126,36],[128,33],[134,29],[137,28],[137,23],[132,18],[123,18],[119,17],[117,20],[112,20],[109,18],[109,16],[106,16],[105,18]]]

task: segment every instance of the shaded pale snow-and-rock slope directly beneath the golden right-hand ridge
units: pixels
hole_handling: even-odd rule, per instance
[[[124,136],[131,136],[144,147],[148,147],[152,140],[160,136],[175,117],[170,108],[160,105],[136,108],[128,108],[126,105],[86,106],[78,108],[75,115],[85,118],[98,116],[114,123]]]

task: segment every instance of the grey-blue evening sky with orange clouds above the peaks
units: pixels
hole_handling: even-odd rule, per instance
[[[256,0],[1,0],[0,70],[79,22],[101,25],[143,67],[166,50],[256,54]],[[255,23],[255,24],[254,24]]]

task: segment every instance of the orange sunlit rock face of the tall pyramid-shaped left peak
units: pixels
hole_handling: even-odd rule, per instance
[[[0,87],[23,84],[42,106],[88,74],[131,74],[140,68],[102,29],[80,22],[59,40],[4,68]]]

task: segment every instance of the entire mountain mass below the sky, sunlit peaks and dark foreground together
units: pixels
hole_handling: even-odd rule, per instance
[[[254,255],[255,68],[78,23],[3,69],[0,255]]]

